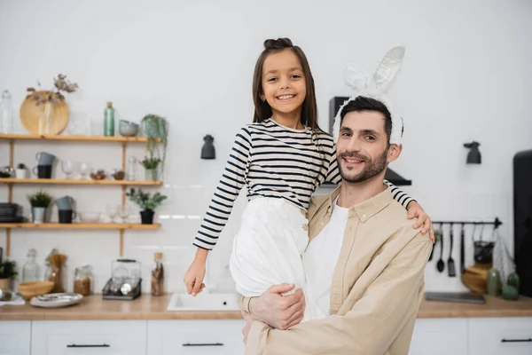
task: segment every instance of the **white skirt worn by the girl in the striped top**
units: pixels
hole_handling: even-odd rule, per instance
[[[303,321],[325,318],[309,294],[303,266],[308,222],[302,209],[284,199],[259,197],[247,202],[230,261],[240,295],[261,296],[273,285],[293,283],[294,290],[301,288],[305,295]]]

